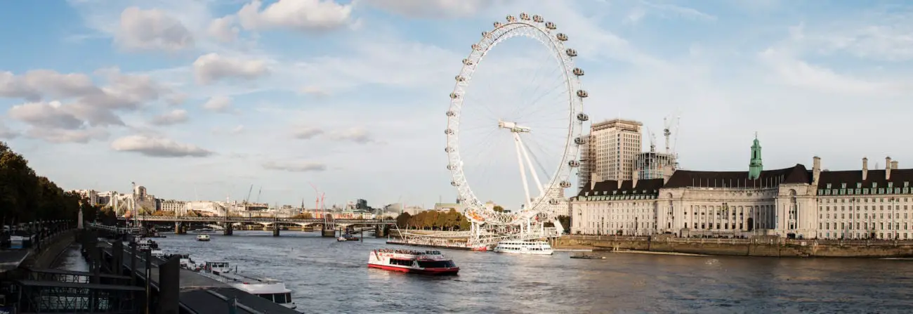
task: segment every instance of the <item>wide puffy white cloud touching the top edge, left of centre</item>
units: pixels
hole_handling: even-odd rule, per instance
[[[299,31],[327,31],[346,26],[352,16],[352,5],[332,0],[278,0],[263,11],[263,3],[254,0],[241,7],[237,16],[246,29],[289,28]]]

